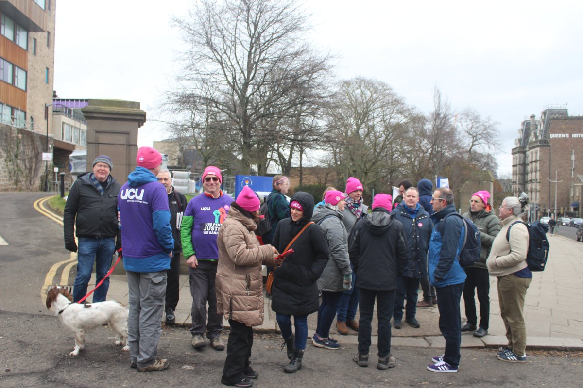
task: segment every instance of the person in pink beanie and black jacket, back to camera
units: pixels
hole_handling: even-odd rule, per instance
[[[408,248],[403,225],[391,218],[391,208],[391,195],[375,195],[373,211],[356,222],[349,243],[350,260],[354,262],[360,296],[359,351],[353,361],[359,366],[368,366],[371,322],[376,302],[378,369],[396,365],[396,359],[391,354],[391,317],[397,279],[407,265]]]

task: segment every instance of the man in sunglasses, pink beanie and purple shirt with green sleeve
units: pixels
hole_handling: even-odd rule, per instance
[[[206,346],[205,331],[213,349],[224,349],[223,341],[220,339],[223,316],[216,311],[215,277],[219,259],[217,236],[233,198],[223,194],[220,189],[222,181],[220,170],[215,166],[208,166],[204,170],[203,193],[188,202],[180,227],[182,254],[187,259],[192,295],[190,332],[192,347],[195,349]]]

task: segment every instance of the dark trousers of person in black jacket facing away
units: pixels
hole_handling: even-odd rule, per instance
[[[359,354],[368,354],[370,348],[375,298],[378,319],[378,357],[387,357],[391,354],[391,316],[395,304],[395,290],[360,289]]]

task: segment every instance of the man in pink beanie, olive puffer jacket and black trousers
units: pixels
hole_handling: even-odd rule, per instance
[[[472,220],[480,231],[480,258],[476,264],[465,267],[465,283],[463,283],[463,304],[466,310],[466,323],[462,326],[462,332],[473,332],[475,337],[483,337],[488,334],[490,326],[490,275],[486,266],[486,259],[490,254],[490,248],[494,238],[500,232],[500,220],[489,211],[486,211],[490,193],[486,190],[476,191],[470,197],[469,212],[463,216]],[[477,291],[477,300],[480,302],[480,324],[477,325],[476,301],[474,290]],[[477,325],[477,330],[476,330]]]

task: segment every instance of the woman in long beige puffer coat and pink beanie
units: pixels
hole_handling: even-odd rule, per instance
[[[263,323],[263,279],[261,265],[280,265],[271,245],[259,245],[254,230],[259,220],[259,198],[247,186],[231,203],[229,215],[219,229],[219,263],[216,275],[217,313],[229,319],[221,382],[250,387],[259,373],[250,365],[253,326]]]

